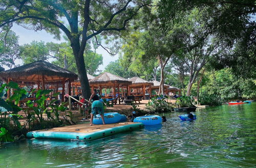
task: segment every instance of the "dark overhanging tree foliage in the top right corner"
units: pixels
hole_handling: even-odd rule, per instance
[[[165,30],[170,29],[170,22],[178,22],[182,13],[194,9],[201,11],[210,35],[214,35],[223,46],[222,53],[217,55],[212,66],[216,69],[230,67],[239,76],[255,78],[253,72],[256,67],[251,64],[256,61],[255,1],[162,0],[158,5]]]

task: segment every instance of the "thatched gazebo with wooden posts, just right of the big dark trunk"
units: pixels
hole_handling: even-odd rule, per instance
[[[102,99],[114,101],[114,103],[117,103],[117,100],[120,104],[121,98],[125,95],[124,90],[128,90],[128,86],[132,84],[131,81],[128,79],[125,79],[123,77],[104,72],[100,74],[99,76],[95,77],[94,79],[89,81],[90,87],[92,91],[94,89],[99,90],[99,94],[102,95],[102,90],[105,90],[104,96],[102,96]],[[111,90],[112,94],[106,94],[106,89]]]

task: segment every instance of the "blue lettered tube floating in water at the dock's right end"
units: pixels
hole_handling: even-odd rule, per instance
[[[162,118],[157,115],[136,117],[133,122],[143,123],[144,125],[156,125],[162,123]]]

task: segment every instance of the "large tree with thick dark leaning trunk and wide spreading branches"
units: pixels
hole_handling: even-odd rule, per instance
[[[90,86],[83,52],[88,41],[99,34],[125,30],[126,25],[150,1],[2,1],[0,27],[13,22],[28,25],[28,29],[46,30],[60,37],[60,30],[68,37],[82,86],[83,97],[90,97]],[[65,18],[65,19],[64,19]],[[63,20],[67,20],[65,26]]]

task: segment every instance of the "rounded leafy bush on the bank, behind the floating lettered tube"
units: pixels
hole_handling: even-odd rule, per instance
[[[167,113],[172,111],[172,106],[165,99],[168,99],[168,97],[163,95],[160,97],[154,96],[148,101],[146,108],[155,113]]]

